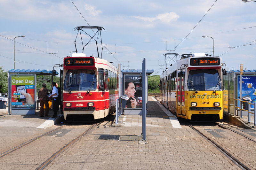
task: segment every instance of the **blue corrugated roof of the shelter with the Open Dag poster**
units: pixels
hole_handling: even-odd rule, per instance
[[[52,75],[52,70],[36,70],[36,69],[33,69],[33,70],[25,70],[25,69],[12,69],[12,70],[9,70],[8,73],[18,73],[18,74],[36,74],[36,75]],[[59,73],[56,71],[56,75],[58,75]]]

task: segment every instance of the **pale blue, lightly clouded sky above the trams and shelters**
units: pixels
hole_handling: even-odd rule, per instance
[[[0,66],[52,70],[63,58],[83,52],[77,26],[100,26],[102,58],[121,69],[146,69],[160,75],[165,53],[220,56],[227,70],[256,69],[256,2],[241,0],[1,0]],[[88,30],[88,34],[93,32]],[[202,36],[210,36],[203,38]],[[83,43],[89,37],[83,35]],[[101,48],[100,41],[99,47]],[[97,56],[91,41],[84,49]],[[169,55],[170,58],[174,55]],[[166,58],[167,67],[174,61]],[[175,57],[173,58],[174,60]],[[179,59],[179,58],[178,58]],[[55,67],[59,72],[62,67]]]

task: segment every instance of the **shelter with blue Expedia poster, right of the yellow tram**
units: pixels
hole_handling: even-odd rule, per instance
[[[223,105],[224,111],[237,115],[240,101],[236,99],[248,101],[248,103],[256,103],[256,70],[243,70],[242,73],[242,97],[240,97],[240,70],[230,70],[227,75],[223,75]],[[243,103],[243,109],[254,110],[253,104]]]

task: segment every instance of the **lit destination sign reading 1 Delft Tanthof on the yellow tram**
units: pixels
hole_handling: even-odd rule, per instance
[[[220,58],[204,57],[204,58],[190,58],[190,66],[218,66],[220,65]]]

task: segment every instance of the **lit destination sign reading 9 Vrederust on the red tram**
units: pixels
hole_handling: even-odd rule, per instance
[[[66,58],[65,66],[93,66],[93,58]]]

